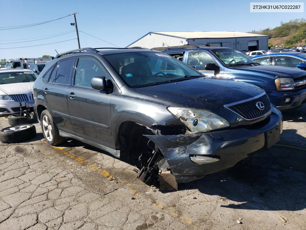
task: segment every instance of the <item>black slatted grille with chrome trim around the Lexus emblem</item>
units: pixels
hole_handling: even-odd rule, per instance
[[[263,103],[264,105],[263,110],[259,109],[256,106],[257,102]],[[266,93],[260,94],[254,98],[250,98],[247,100],[243,100],[241,102],[235,102],[224,106],[246,120],[255,120],[271,112],[270,100]]]

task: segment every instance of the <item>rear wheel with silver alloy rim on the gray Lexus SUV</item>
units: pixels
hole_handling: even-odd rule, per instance
[[[58,128],[47,109],[40,115],[40,124],[43,136],[48,144],[56,146],[65,142],[65,137],[59,135]]]

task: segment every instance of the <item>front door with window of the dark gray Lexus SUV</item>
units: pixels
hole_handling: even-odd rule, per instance
[[[79,56],[73,86],[68,90],[69,115],[76,136],[108,147],[112,94],[91,87],[91,79],[97,76],[110,79],[110,75],[98,59]]]

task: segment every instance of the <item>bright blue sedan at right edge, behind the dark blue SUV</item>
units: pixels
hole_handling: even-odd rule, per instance
[[[262,65],[298,67],[306,70],[306,53],[282,52],[271,53],[252,57],[254,61]]]

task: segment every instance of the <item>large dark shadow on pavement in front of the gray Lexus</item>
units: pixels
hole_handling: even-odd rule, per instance
[[[305,142],[294,129],[285,130],[285,136]],[[296,142],[291,142],[291,146]],[[305,186],[306,150],[273,146],[226,171],[181,184],[180,189],[198,189],[220,199],[225,197],[223,200],[241,202],[221,205],[231,209],[294,211],[306,208]]]

